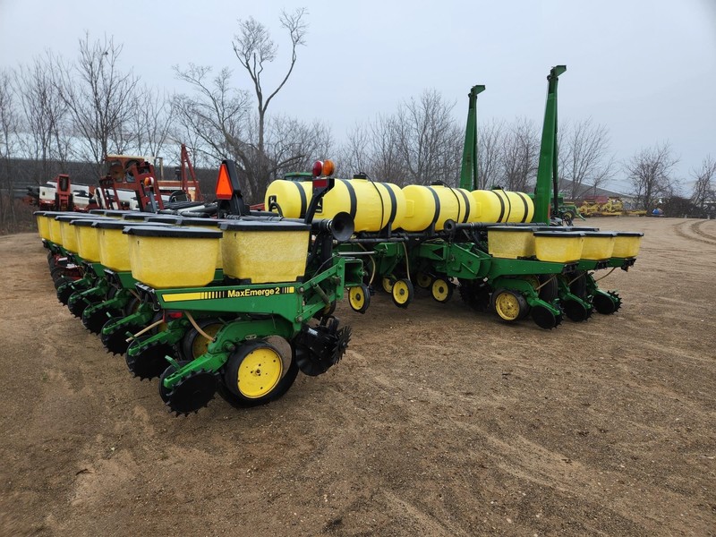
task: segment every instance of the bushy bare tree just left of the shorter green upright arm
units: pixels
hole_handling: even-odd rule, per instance
[[[403,103],[395,115],[397,151],[409,183],[440,181],[456,185],[463,152],[463,130],[436,90]]]

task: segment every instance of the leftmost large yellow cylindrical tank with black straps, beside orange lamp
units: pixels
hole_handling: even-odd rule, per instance
[[[393,183],[379,183],[361,177],[336,179],[334,187],[323,197],[316,216],[332,218],[339,212],[346,212],[354,218],[356,232],[377,232],[388,224],[396,229],[403,227],[405,195]]]

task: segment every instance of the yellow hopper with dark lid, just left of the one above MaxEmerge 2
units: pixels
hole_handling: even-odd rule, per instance
[[[125,227],[123,233],[134,279],[155,289],[203,287],[214,279],[219,230],[158,224]]]

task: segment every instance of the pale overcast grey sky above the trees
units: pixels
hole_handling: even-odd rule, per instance
[[[426,89],[456,101],[464,121],[474,84],[487,86],[481,120],[526,116],[541,126],[546,75],[567,64],[560,121],[606,125],[618,160],[669,141],[687,181],[703,158],[716,158],[716,0],[0,0],[0,68],[46,49],[73,59],[89,30],[123,43],[122,65],[150,85],[186,90],[171,66],[191,62],[229,66],[248,89],[231,41],[236,21],[252,16],[279,45],[268,88],[290,52],[278,16],[299,6],[309,10],[307,47],[271,108],[323,119],[337,141]]]

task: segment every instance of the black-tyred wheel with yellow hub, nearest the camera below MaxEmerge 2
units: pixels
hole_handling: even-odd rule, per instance
[[[229,356],[218,392],[226,402],[239,408],[266,405],[283,396],[297,374],[293,356],[286,367],[284,356],[275,345],[256,339],[239,346]]]

